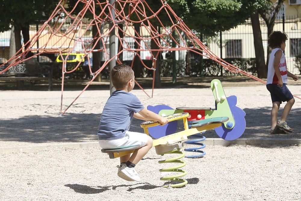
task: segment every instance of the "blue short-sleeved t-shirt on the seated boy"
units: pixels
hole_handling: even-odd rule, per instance
[[[130,129],[134,112],[144,109],[140,100],[132,93],[116,90],[104,105],[98,127],[98,140],[123,138]]]

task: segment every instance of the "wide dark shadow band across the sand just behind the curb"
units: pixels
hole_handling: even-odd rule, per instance
[[[293,108],[288,115],[287,122],[294,129],[291,134],[269,133],[271,108],[245,108],[246,130],[241,138],[301,138],[301,108]],[[281,114],[282,109],[279,111]],[[0,140],[19,141],[29,143],[49,142],[87,142],[96,141],[98,124],[101,114],[74,114],[68,113],[63,117],[53,116],[24,116],[19,119],[0,120]],[[133,119],[131,131],[143,133],[140,123]],[[179,124],[178,127],[181,127]],[[179,128],[183,130],[183,128]],[[214,130],[204,133],[206,138],[219,138]],[[206,144],[206,143],[205,143]]]

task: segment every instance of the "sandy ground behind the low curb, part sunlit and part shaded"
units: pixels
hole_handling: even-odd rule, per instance
[[[176,107],[211,107],[215,108],[215,101],[210,89],[213,78],[178,78],[174,86],[171,78],[162,78],[162,88],[154,89],[153,98],[149,98],[138,87],[134,93],[144,104],[165,104]],[[240,139],[231,142],[213,143],[219,137],[214,130],[204,133],[208,143],[228,146],[229,144],[298,144],[301,139],[301,100],[296,98],[295,105],[287,117],[287,123],[294,129],[290,134],[270,134],[271,100],[264,84],[250,80],[247,77],[220,77],[226,96],[237,96],[237,106],[246,112],[246,130]],[[146,80],[146,81],[145,81]],[[75,83],[73,85],[73,82]],[[63,117],[59,117],[61,91],[47,91],[47,86],[40,83],[29,90],[1,90],[0,97],[0,152],[9,151],[12,147],[49,146],[74,144],[83,142],[97,142],[97,130],[104,104],[109,97],[108,82],[93,83],[79,99],[67,110]],[[143,82],[144,81],[144,82]],[[151,95],[148,84],[150,80],[138,79],[138,83]],[[69,85],[63,94],[63,110],[79,95],[80,86],[85,86],[82,80],[69,80]],[[82,83],[82,85],[80,84]],[[301,96],[301,81],[289,80],[289,89],[294,95]],[[0,85],[1,86],[1,85]],[[36,87],[39,90],[35,90]],[[8,86],[9,87],[9,86]],[[26,85],[25,85],[26,87]],[[98,88],[97,88],[98,87]],[[281,104],[279,113],[284,104]],[[141,120],[133,119],[131,129],[143,132]],[[178,124],[178,130],[182,130]],[[209,142],[209,141],[212,142]],[[248,142],[246,141],[248,140]],[[262,143],[260,141],[262,140]],[[285,141],[286,140],[286,141]],[[290,140],[290,141],[287,141]],[[291,141],[295,140],[295,141]],[[223,141],[223,140],[222,140]],[[85,143],[87,144],[87,143]],[[74,145],[74,147],[85,145]],[[87,145],[88,146],[88,145]],[[91,145],[89,145],[91,146]],[[24,149],[23,149],[24,150]],[[12,149],[13,151],[13,149]]]

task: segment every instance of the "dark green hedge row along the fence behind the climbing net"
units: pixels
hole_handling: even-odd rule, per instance
[[[301,58],[301,56],[299,57]],[[228,63],[240,68],[243,71],[246,71],[254,76],[257,75],[256,72],[256,63],[255,58],[226,58],[224,59]],[[148,67],[152,68],[152,60],[142,60],[143,63]],[[172,59],[164,59],[158,60],[160,62],[160,73],[161,77],[172,77]],[[299,59],[301,61],[301,59]],[[132,60],[123,61],[124,64],[131,66]],[[101,66],[104,64],[104,61],[101,61]],[[190,60],[190,66],[186,64],[185,61],[178,60],[176,61],[176,69],[177,69],[177,77],[191,76],[191,77],[200,77],[200,58],[194,58]],[[53,78],[60,79],[62,77],[62,63],[53,62]],[[221,67],[220,65],[211,60],[211,59],[203,59],[203,71],[204,76],[220,76],[221,75]],[[299,62],[300,66],[300,62]],[[70,71],[76,67],[76,63],[67,63],[67,71]],[[153,77],[153,70],[149,70],[145,68],[141,64],[141,68],[143,68],[142,77]],[[189,68],[189,69],[188,69]],[[301,68],[301,67],[300,67]],[[299,69],[300,69],[299,68]],[[87,69],[83,69],[80,66],[76,71],[65,74],[70,78],[81,79],[85,75],[85,71]],[[223,76],[237,76],[242,75],[240,73],[233,73],[231,71],[227,71],[225,68],[222,69]],[[301,71],[300,71],[301,72]],[[109,78],[109,64],[101,71],[101,78]]]

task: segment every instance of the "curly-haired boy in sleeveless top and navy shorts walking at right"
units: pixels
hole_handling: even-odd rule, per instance
[[[281,133],[281,129],[287,132],[293,132],[293,129],[287,125],[286,118],[295,103],[295,99],[286,85],[287,76],[293,78],[295,81],[298,80],[298,77],[287,71],[286,59],[283,53],[286,40],[287,35],[281,31],[274,31],[268,38],[268,46],[273,49],[268,62],[266,88],[271,93],[273,103],[271,111],[271,133],[273,134]],[[277,121],[280,104],[285,101],[287,103],[284,106],[281,118]]]

